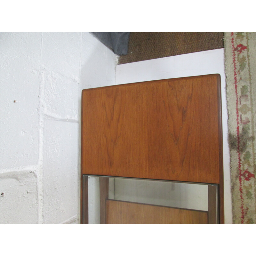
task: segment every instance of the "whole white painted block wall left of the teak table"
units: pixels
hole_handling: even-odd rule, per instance
[[[0,33],[0,223],[79,223],[81,90],[115,68],[89,33]]]

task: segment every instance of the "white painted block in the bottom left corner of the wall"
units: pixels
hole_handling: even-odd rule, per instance
[[[0,224],[38,222],[38,199],[34,172],[0,174],[0,216]]]

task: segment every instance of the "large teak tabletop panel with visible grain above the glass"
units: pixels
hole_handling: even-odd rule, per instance
[[[82,91],[82,174],[219,183],[220,75]]]

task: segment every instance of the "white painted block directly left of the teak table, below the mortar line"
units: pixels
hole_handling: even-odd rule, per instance
[[[78,212],[78,123],[45,120],[44,223],[61,223]]]

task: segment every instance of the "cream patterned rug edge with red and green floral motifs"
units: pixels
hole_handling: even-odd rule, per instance
[[[256,33],[225,33],[233,223],[256,223]]]

